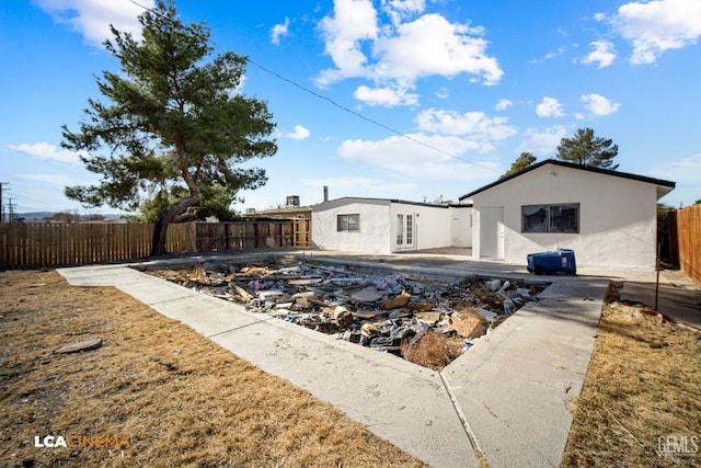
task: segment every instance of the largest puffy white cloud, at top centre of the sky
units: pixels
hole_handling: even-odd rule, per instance
[[[317,84],[326,87],[346,78],[367,78],[377,88],[413,89],[427,76],[451,78],[469,73],[486,85],[496,84],[503,70],[486,54],[482,27],[450,23],[435,13],[422,13],[424,1],[384,2],[391,24],[383,24],[370,0],[336,0],[333,15],[321,21],[325,53],[335,68],[322,70]]]

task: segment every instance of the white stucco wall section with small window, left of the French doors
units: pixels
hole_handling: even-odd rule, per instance
[[[360,215],[360,230],[338,232],[337,215]],[[324,250],[390,253],[393,217],[389,201],[335,199],[315,205],[311,212],[312,243]]]

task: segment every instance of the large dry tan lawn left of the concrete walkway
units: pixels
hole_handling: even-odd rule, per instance
[[[0,290],[0,467],[422,466],[117,289],[4,272]],[[101,349],[53,354],[93,338]],[[129,446],[37,448],[36,435]]]

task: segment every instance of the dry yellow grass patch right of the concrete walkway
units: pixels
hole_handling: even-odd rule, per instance
[[[616,299],[616,288],[609,293]],[[699,466],[700,339],[607,301],[563,465]],[[675,441],[687,442],[686,455],[657,453],[674,448]]]

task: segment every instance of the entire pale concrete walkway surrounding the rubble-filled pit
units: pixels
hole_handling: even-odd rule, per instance
[[[309,252],[285,255],[311,260]],[[246,262],[263,258],[215,259]],[[198,256],[159,264],[205,260]],[[472,274],[536,279],[519,265],[473,262],[464,256],[324,252],[313,253],[313,260],[411,272],[416,279],[457,279]],[[572,423],[568,401],[582,389],[608,281],[624,276],[581,271],[574,277],[538,277],[553,282],[540,301],[526,305],[437,373],[266,315],[246,312],[241,306],[128,265],[60,269],[59,273],[76,286],[116,286],[260,368],[331,402],[434,467],[476,467],[475,454],[498,467],[559,466]]]

